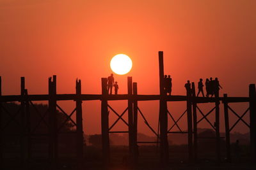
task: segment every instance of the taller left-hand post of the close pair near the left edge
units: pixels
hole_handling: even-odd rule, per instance
[[[25,162],[25,78],[20,78],[20,163]]]

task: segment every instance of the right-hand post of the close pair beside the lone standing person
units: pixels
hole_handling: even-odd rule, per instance
[[[192,95],[193,95],[193,133],[194,133],[194,161],[197,161],[197,115],[196,115],[196,90],[195,90],[195,83],[192,83]]]

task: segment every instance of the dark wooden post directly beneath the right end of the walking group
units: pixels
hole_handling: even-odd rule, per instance
[[[217,161],[220,162],[220,98],[219,91],[215,94],[215,129],[216,129],[216,155]]]

